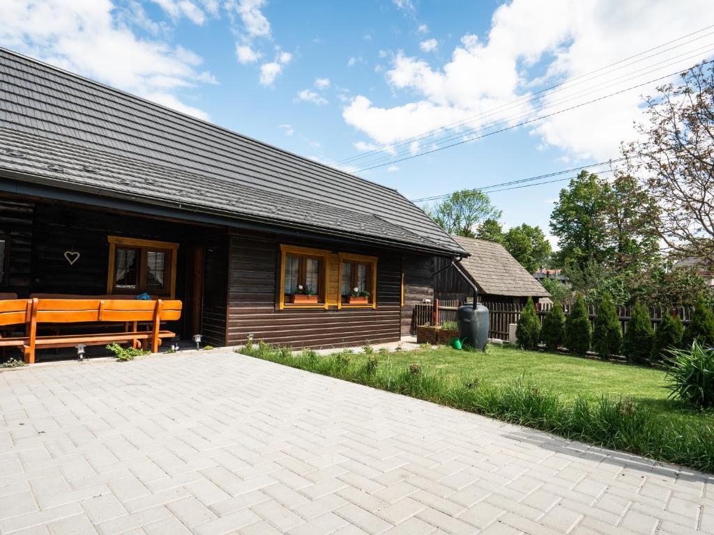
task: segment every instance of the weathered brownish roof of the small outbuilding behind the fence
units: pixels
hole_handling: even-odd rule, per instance
[[[452,238],[471,253],[460,264],[482,293],[513,297],[550,295],[503,245],[461,236]]]

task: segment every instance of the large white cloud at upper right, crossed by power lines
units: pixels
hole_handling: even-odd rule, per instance
[[[377,143],[393,143],[479,114],[481,117],[468,126],[478,128],[496,118],[513,125],[518,123],[519,114],[533,113],[533,106],[508,108],[508,113],[494,114],[493,110],[565,78],[581,76],[690,34],[703,26],[702,21],[711,19],[714,2],[710,0],[681,0],[677,9],[672,9],[667,0],[630,0],[624,4],[619,0],[513,0],[496,9],[486,36],[463,36],[451,58],[440,67],[397,54],[386,72],[386,81],[401,102],[381,107],[366,96],[357,96],[344,109],[343,118]],[[665,59],[680,56],[674,66],[660,65],[659,71],[643,73],[615,87],[601,87],[603,81],[627,74],[636,76],[633,73],[637,68],[662,61],[652,58],[609,77],[552,93],[537,105],[550,106],[544,113],[552,113],[673,73],[703,59],[682,56],[705,44],[700,40],[663,54]],[[536,143],[561,148],[575,159],[617,156],[620,141],[635,135],[633,121],[642,120],[641,95],[653,93],[654,86],[661,83],[564,111],[528,128]],[[593,91],[598,86],[601,91],[578,95],[578,91]],[[564,103],[564,98],[571,100]]]

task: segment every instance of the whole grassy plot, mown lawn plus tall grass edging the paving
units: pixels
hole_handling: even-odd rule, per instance
[[[263,345],[241,352],[714,473],[714,413],[668,399],[661,370],[501,347],[321,357]]]

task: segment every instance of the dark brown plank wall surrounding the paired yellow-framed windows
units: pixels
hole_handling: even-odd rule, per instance
[[[372,255],[377,264],[377,308],[277,310],[280,244]],[[400,337],[401,256],[374,249],[234,234],[230,247],[228,344],[254,340],[293,347],[333,347],[391,342]]]

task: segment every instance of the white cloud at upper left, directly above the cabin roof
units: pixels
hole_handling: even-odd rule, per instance
[[[216,82],[200,70],[201,57],[166,40],[139,38],[109,0],[4,0],[0,21],[0,44],[9,49],[208,118],[176,94]]]

